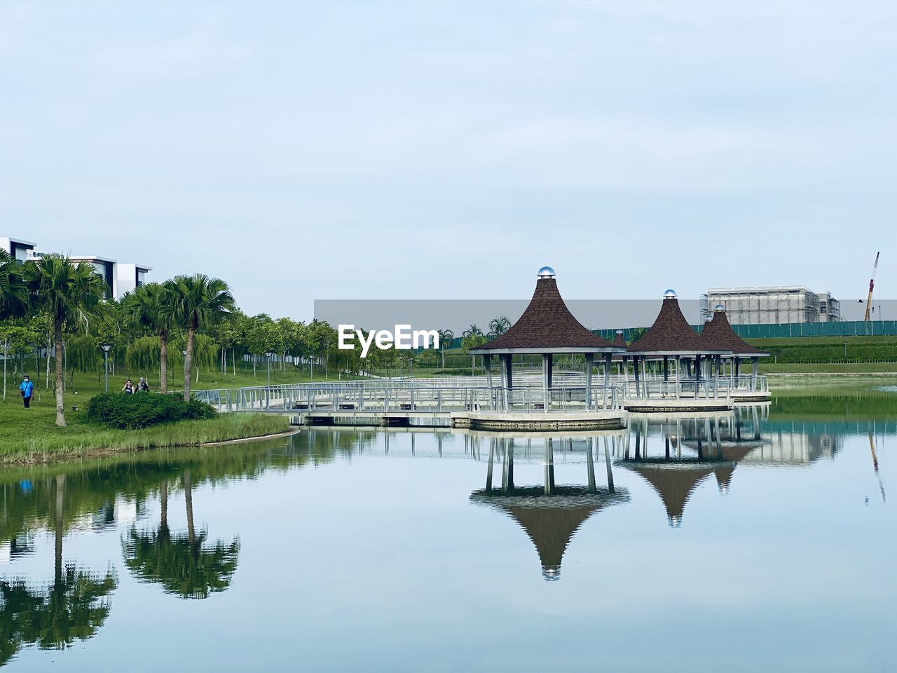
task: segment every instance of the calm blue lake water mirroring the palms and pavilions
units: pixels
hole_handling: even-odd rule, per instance
[[[895,448],[879,394],[6,469],[0,664],[895,670]]]

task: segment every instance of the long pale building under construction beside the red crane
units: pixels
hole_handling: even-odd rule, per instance
[[[717,287],[701,297],[702,318],[722,305],[733,325],[792,322],[840,322],[840,302],[832,293],[814,293],[802,285]]]

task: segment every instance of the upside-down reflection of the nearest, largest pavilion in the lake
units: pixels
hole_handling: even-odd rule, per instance
[[[483,434],[483,433],[478,433]],[[514,483],[515,452],[531,459],[534,456],[533,436],[515,441],[499,434],[489,440],[486,485],[475,491],[473,502],[492,507],[516,520],[536,546],[542,573],[546,580],[557,580],[561,574],[564,552],[570,539],[582,524],[597,511],[617,503],[629,502],[629,494],[614,485],[611,452],[623,442],[623,433],[566,433],[536,435],[543,446],[535,447],[544,465],[542,485],[519,486]],[[603,443],[607,485],[599,487],[595,477],[595,455],[598,442]],[[554,483],[555,450],[571,452],[574,444],[584,450],[586,457],[586,485],[556,485]],[[501,486],[493,484],[495,464],[501,468]]]

